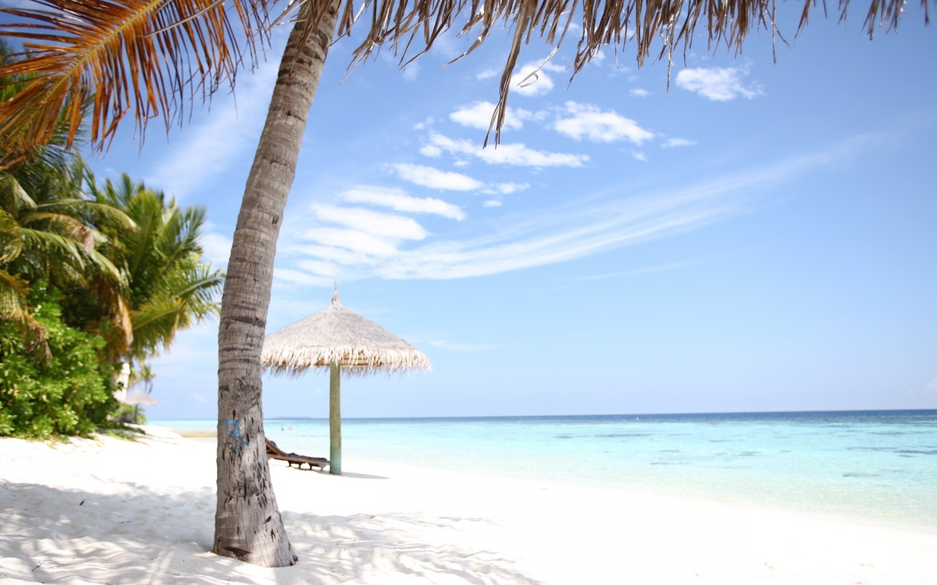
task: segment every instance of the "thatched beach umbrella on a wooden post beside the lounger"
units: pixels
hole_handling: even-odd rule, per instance
[[[419,349],[345,308],[337,287],[328,307],[267,335],[261,360],[275,374],[329,369],[329,473],[335,475],[342,473],[341,374],[430,369]]]

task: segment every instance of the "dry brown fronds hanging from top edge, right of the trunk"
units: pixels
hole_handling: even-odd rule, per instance
[[[311,0],[310,0],[311,1]],[[350,35],[355,8],[353,0],[341,0],[344,7],[339,20],[339,36]],[[928,0],[920,0],[925,22],[930,22]],[[313,9],[306,29],[315,29],[315,23],[327,9],[326,2],[312,2]],[[697,26],[706,28],[707,50],[721,44],[740,51],[749,33],[761,26],[770,30],[772,40],[778,34],[775,24],[777,0],[364,0],[360,12],[370,15],[364,42],[354,51],[352,67],[388,45],[396,51],[403,47],[400,65],[406,66],[424,54],[439,37],[463,24],[460,35],[473,35],[474,42],[458,61],[475,51],[493,31],[513,28],[513,38],[498,87],[498,105],[489,125],[495,130],[495,142],[507,113],[507,100],[514,66],[521,46],[534,36],[545,37],[554,47],[549,60],[565,40],[574,21],[580,30],[576,45],[571,79],[598,53],[602,47],[624,49],[633,43],[638,66],[647,57],[666,58],[669,64],[674,51],[682,45],[683,51],[692,46]],[[937,0],[934,0],[937,5]],[[797,33],[808,22],[816,0],[806,0],[801,9]],[[823,3],[826,9],[825,2]],[[845,18],[849,0],[839,0],[840,20]],[[897,28],[904,0],[870,0],[864,28],[871,37],[877,26],[887,30]],[[782,38],[782,37],[781,37]],[[408,56],[412,47],[419,47],[415,56]],[[655,48],[660,47],[657,51]],[[454,62],[453,61],[453,62]],[[453,63],[451,62],[451,63]],[[545,63],[545,62],[544,62]],[[536,75],[529,74],[520,84]],[[488,138],[485,138],[487,144]]]

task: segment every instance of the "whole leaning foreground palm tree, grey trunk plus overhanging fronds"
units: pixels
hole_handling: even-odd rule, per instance
[[[15,102],[0,104],[0,149],[8,153],[9,160],[28,156],[33,145],[47,136],[50,120],[62,111],[70,113],[72,125],[77,127],[80,116],[74,113],[74,105],[85,99],[95,104],[92,139],[99,146],[106,145],[113,136],[128,107],[134,109],[140,130],[150,117],[161,115],[168,124],[181,120],[180,102],[172,98],[190,95],[186,90],[190,92],[192,87],[201,88],[205,95],[217,89],[222,80],[232,80],[241,54],[229,34],[231,24],[221,2],[45,0],[45,4],[68,16],[7,10],[45,27],[39,32],[15,24],[7,27],[8,35],[31,43],[34,54],[18,67],[0,68],[0,74],[5,70],[7,74],[40,72],[29,93]],[[231,0],[231,4],[245,24],[247,42],[252,43],[258,28],[253,25],[265,22],[272,0]],[[290,2],[288,7],[295,4]],[[845,14],[848,4],[848,0],[840,2],[840,14]],[[495,130],[496,143],[521,46],[539,34],[558,47],[573,18],[579,20],[581,30],[573,75],[603,46],[624,46],[629,41],[636,47],[641,66],[648,56],[655,56],[651,46],[661,39],[662,50],[656,57],[666,57],[669,64],[681,43],[684,50],[690,47],[700,22],[706,26],[710,46],[724,42],[729,48],[739,49],[759,25],[771,28],[772,39],[776,33],[775,0],[583,0],[581,6],[577,0],[363,0],[363,5],[370,5],[371,16],[364,24],[364,42],[355,51],[355,63],[383,45],[395,49],[403,44],[401,65],[406,65],[411,46],[422,45],[416,56],[423,54],[457,19],[467,21],[463,33],[476,36],[466,54],[481,45],[499,24],[513,27],[513,41],[498,88],[498,106],[489,126],[489,132]],[[893,28],[902,5],[903,0],[870,0],[866,17],[869,34],[880,23]],[[922,0],[922,5],[927,8],[927,0]],[[804,2],[800,27],[808,22],[812,6],[809,0]],[[279,566],[295,561],[264,456],[260,350],[276,239],[308,110],[329,46],[335,35],[349,34],[355,13],[352,0],[303,2],[277,74],[231,246],[218,330],[214,550],[249,563]],[[178,28],[171,28],[173,23]],[[169,42],[176,38],[175,43]],[[200,44],[196,39],[205,42]],[[186,53],[194,56],[197,67],[186,69]],[[177,107],[173,109],[171,104]]]

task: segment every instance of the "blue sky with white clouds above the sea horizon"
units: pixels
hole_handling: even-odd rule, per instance
[[[794,8],[794,7],[787,7]],[[854,17],[862,10],[855,10]],[[819,14],[817,15],[819,16]],[[783,16],[793,31],[796,14]],[[507,34],[454,66],[447,37],[399,71],[329,55],[276,259],[269,329],[352,310],[434,370],[349,380],[346,417],[937,407],[937,57],[816,19],[634,66],[573,44],[515,88],[481,149]],[[283,33],[236,99],[93,161],[208,208],[227,260]],[[519,64],[549,48],[532,44]],[[154,361],[151,418],[215,417],[216,323]],[[266,378],[267,417],[324,417],[327,377]]]

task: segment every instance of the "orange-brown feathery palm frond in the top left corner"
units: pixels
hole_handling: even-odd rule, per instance
[[[23,19],[0,24],[0,34],[21,38],[24,50],[0,66],[0,78],[19,86],[0,104],[7,166],[52,139],[63,115],[70,145],[86,102],[97,148],[108,145],[129,112],[141,135],[156,117],[167,126],[181,123],[187,102],[233,84],[245,57],[254,62],[258,31],[267,22],[266,0],[37,2],[48,9],[0,9]]]

